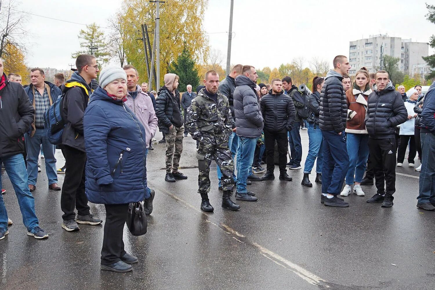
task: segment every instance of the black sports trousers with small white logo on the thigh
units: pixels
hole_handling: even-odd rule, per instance
[[[368,148],[375,171],[377,192],[393,198],[396,191],[396,138],[368,138]]]

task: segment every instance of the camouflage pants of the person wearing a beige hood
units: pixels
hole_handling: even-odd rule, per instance
[[[177,173],[180,164],[181,152],[183,152],[184,126],[173,127],[166,134],[166,173]]]

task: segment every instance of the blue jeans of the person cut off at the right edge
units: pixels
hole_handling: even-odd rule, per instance
[[[435,203],[435,134],[420,133],[422,143],[422,170],[418,180],[418,202]]]

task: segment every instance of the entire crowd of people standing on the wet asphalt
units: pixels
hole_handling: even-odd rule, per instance
[[[166,144],[167,182],[188,178],[179,171],[183,139],[190,133],[197,141],[198,193],[206,212],[214,211],[208,198],[212,160],[218,164],[221,206],[239,210],[231,199],[234,190],[235,200],[258,201],[248,186],[274,180],[275,164],[279,179],[286,182],[292,181],[286,167],[302,169],[302,128],[308,130],[309,145],[301,185],[312,187],[316,163],[315,183],[321,184],[325,206],[348,207],[340,196],[365,196],[361,185],[373,185],[374,179],[377,193],[367,202],[393,206],[395,168],[403,166],[409,147],[408,166],[414,167],[416,152],[422,163],[417,168],[417,207],[435,210],[435,82],[425,96],[419,86],[407,96],[404,87],[395,90],[385,70],[369,73],[363,67],[352,81],[347,57],[335,57],[333,65],[326,77],[313,78],[312,92],[289,76],[257,84],[255,67],[237,64],[221,82],[216,71],[207,71],[196,93],[187,85],[180,96],[174,73],[164,75],[158,93],[149,92],[147,83],[138,84],[135,67],[100,71],[97,59],[87,54],[77,57],[69,80],[57,74],[50,83],[43,70],[34,68],[25,87],[21,76],[3,73],[0,60],[0,162],[13,184],[27,234],[48,237],[31,193],[43,152],[48,189],[61,190],[62,228],[72,232],[80,230],[78,224],[102,223],[88,201],[104,204],[101,269],[131,271],[138,259],[124,250],[123,228],[129,203],[141,201],[147,215],[153,211],[155,191],[147,184],[146,160],[157,127],[163,133],[159,143]],[[59,144],[49,142],[44,119],[54,103],[60,104],[64,122]],[[56,149],[65,158],[58,170]],[[60,173],[65,174],[62,188]],[[0,195],[0,240],[11,223]]]

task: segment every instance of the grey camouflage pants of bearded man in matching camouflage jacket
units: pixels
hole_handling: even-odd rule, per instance
[[[234,190],[234,164],[231,151],[228,149],[228,142],[214,145],[208,142],[201,142],[197,152],[198,159],[198,193],[210,192],[210,164],[215,160],[221,168],[221,185],[223,190]]]

